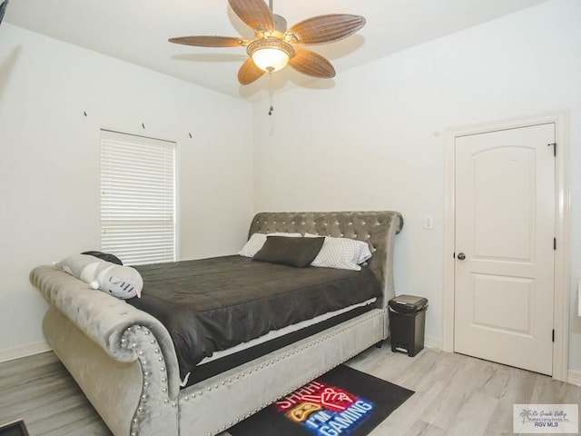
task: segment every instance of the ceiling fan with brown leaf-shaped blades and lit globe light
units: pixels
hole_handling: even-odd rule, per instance
[[[331,78],[335,68],[320,54],[298,45],[327,44],[353,35],[365,25],[359,15],[319,15],[287,29],[281,15],[272,14],[263,0],[228,0],[232,10],[254,31],[254,39],[230,36],[182,36],[170,42],[201,47],[246,47],[249,59],[238,72],[240,84],[251,84],[264,73],[281,70],[287,64],[302,74]]]

